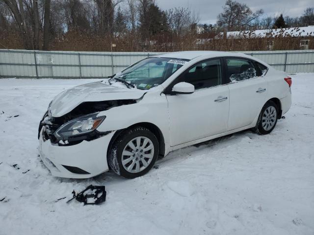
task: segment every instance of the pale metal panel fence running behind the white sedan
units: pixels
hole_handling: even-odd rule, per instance
[[[77,52],[0,49],[0,77],[103,78],[161,52]],[[314,72],[314,50],[244,51],[277,70]]]

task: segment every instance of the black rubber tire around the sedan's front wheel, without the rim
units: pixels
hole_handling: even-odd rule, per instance
[[[136,137],[146,137],[152,141],[154,145],[154,156],[152,158],[152,161],[148,164],[148,166],[146,166],[145,169],[137,173],[131,173],[127,171],[122,164],[122,158],[123,158],[122,152],[124,148],[127,146],[127,144]],[[133,179],[133,178],[146,174],[154,166],[158,157],[158,152],[159,152],[159,143],[154,133],[152,133],[149,129],[145,127],[137,126],[137,127],[133,127],[131,129],[125,130],[123,133],[120,134],[117,140],[112,144],[112,147],[108,152],[109,154],[108,164],[110,168],[118,175],[128,178],[128,179]],[[140,163],[143,166],[143,163],[142,162]]]

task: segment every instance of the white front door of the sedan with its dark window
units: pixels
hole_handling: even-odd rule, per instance
[[[220,59],[199,62],[183,72],[169,89],[187,82],[193,94],[167,94],[170,145],[223,133],[228,129],[229,89],[222,85]]]

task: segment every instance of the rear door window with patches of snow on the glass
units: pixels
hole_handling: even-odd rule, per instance
[[[228,67],[228,77],[231,82],[256,77],[256,70],[249,60],[227,58],[226,61]]]

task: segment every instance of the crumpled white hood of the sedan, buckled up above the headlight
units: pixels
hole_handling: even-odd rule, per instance
[[[109,86],[92,82],[74,87],[55,96],[50,105],[52,117],[61,117],[83,102],[106,101],[119,99],[138,99],[147,92],[138,89]]]

